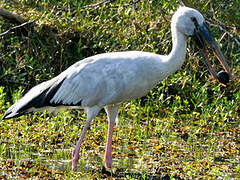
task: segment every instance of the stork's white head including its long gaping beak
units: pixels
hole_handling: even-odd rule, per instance
[[[222,64],[225,70],[225,75],[231,77],[231,70],[218,44],[213,38],[202,14],[192,8],[180,7],[173,15],[171,26],[172,29],[181,32],[185,36],[190,36],[193,38],[200,49],[201,55],[203,56],[204,62],[207,65],[210,73],[221,85],[225,85],[226,82],[224,83],[218,78],[217,73],[211,66],[207,51],[208,45]]]

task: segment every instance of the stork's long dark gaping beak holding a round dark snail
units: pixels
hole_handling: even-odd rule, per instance
[[[216,43],[213,36],[211,35],[211,32],[208,29],[207,24],[204,22],[202,25],[199,25],[197,22],[195,22],[195,27],[196,27],[196,29],[195,29],[192,37],[195,40],[198,47],[200,48],[204,62],[207,65],[210,73],[216,79],[216,81],[219,82],[221,85],[224,85],[222,82],[219,81],[219,79],[217,77],[217,73],[211,66],[211,63],[210,63],[209,57],[208,57],[208,51],[206,49],[207,48],[206,43],[209,44],[210,47],[212,48],[215,56],[218,58],[218,60],[222,64],[222,66],[223,66],[225,72],[227,72],[229,78],[232,77],[231,70],[230,70],[218,44]]]

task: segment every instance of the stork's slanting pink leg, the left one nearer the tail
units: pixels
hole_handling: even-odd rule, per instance
[[[97,115],[97,113],[99,112],[100,109],[101,108],[99,108],[98,106],[93,106],[93,107],[87,109],[87,120],[86,120],[85,126],[83,128],[83,131],[82,131],[82,134],[81,134],[79,140],[77,141],[76,147],[74,148],[74,150],[72,152],[72,171],[73,172],[77,171],[77,164],[78,164],[78,160],[79,160],[79,151],[80,151],[81,144],[83,142],[84,135],[86,134],[92,119]]]

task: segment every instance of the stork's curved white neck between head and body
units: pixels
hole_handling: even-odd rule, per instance
[[[169,73],[174,73],[181,67],[186,56],[186,48],[186,36],[175,28],[172,28],[172,50],[166,60],[168,67],[171,67]]]

